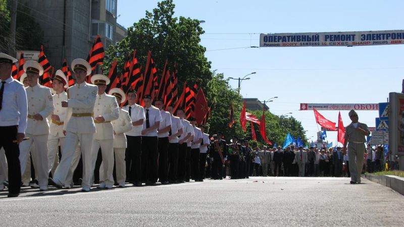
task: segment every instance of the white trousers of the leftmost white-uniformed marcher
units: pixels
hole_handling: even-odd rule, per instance
[[[32,164],[35,169],[35,178],[38,180],[39,187],[47,187],[48,178],[48,164],[47,164],[47,137],[44,135],[31,135],[26,134],[29,140],[24,140],[20,143],[20,164],[21,173],[25,172],[27,166],[27,160],[29,159],[29,153],[31,153]],[[30,152],[31,145],[34,145],[34,149]]]

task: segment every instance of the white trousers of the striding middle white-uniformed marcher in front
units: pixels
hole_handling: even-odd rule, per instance
[[[83,156],[83,182],[82,187],[89,188],[91,186],[92,178],[92,138],[93,133],[73,133],[67,132],[65,138],[65,146],[63,147],[62,159],[55,170],[53,180],[65,185],[66,177],[71,169],[74,153],[77,145],[80,142],[81,155]]]

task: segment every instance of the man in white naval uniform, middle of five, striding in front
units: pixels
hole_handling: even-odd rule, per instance
[[[93,175],[92,141],[96,131],[92,111],[98,87],[85,82],[85,77],[91,74],[91,67],[85,60],[75,59],[71,65],[76,77],[76,84],[67,90],[68,101],[62,102],[62,107],[68,107],[63,126],[66,131],[65,146],[54,178],[49,178],[49,184],[57,188],[61,188],[65,184],[74,151],[78,142],[80,142],[83,157],[83,181],[81,186],[83,192],[89,192]]]

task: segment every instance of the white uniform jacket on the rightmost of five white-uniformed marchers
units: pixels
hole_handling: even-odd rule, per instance
[[[119,110],[119,118],[112,121],[115,131],[114,148],[126,148],[125,133],[132,130],[132,120],[130,119],[129,112],[123,109]]]

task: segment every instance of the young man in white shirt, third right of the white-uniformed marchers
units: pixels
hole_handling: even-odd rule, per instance
[[[169,146],[169,134],[171,131],[171,114],[163,109],[164,100],[157,98],[155,105],[160,110],[162,122],[160,122],[159,132],[157,137],[159,138],[159,181],[163,185],[168,184],[168,146]]]

